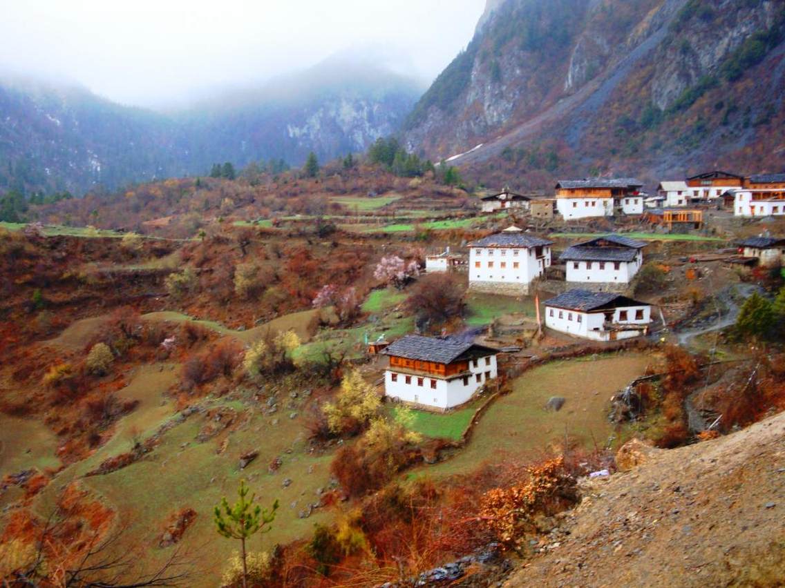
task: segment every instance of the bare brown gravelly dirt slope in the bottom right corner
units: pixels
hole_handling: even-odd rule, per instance
[[[785,413],[584,495],[506,586],[785,585]]]

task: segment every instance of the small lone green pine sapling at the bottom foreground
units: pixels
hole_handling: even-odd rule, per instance
[[[258,504],[254,506],[256,495],[252,494],[250,499],[246,499],[248,492],[250,488],[245,485],[245,480],[241,480],[240,487],[237,489],[239,499],[234,506],[229,506],[224,497],[214,510],[217,532],[227,539],[239,539],[243,547],[243,588],[246,588],[248,578],[246,539],[257,532],[268,532],[272,528],[270,524],[275,520],[278,510],[278,500],[272,503],[270,510],[262,509]]]

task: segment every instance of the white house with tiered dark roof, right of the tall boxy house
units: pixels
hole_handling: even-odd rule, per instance
[[[643,241],[609,234],[572,245],[559,256],[566,280],[586,283],[629,284],[643,265]]]

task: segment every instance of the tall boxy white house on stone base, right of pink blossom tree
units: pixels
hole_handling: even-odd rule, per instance
[[[517,227],[469,243],[469,289],[528,294],[531,281],[550,267],[550,245]]]

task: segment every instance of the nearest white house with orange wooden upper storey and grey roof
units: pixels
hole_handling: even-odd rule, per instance
[[[384,351],[385,396],[432,408],[462,405],[497,376],[497,350],[457,339],[409,335]]]

